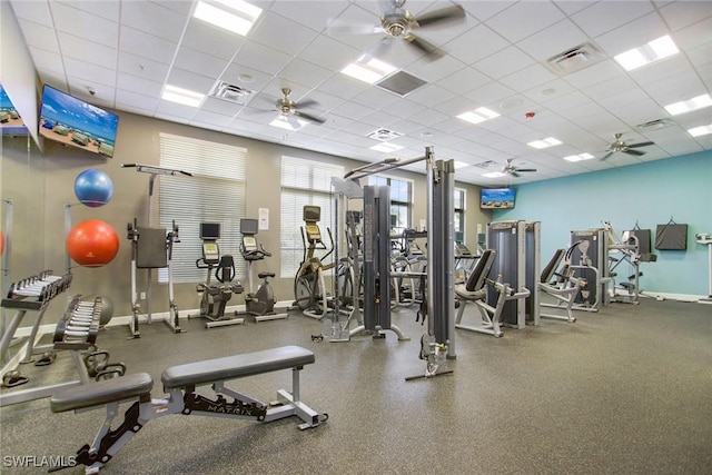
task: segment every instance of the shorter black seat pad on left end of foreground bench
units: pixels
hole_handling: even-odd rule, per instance
[[[154,379],[147,373],[137,373],[70,387],[52,395],[49,407],[52,413],[101,406],[109,403],[150,395]]]

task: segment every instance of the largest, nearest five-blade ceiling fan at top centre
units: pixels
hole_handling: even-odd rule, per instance
[[[441,58],[443,56],[443,51],[435,44],[416,36],[414,31],[421,28],[463,21],[465,20],[465,9],[459,4],[455,4],[414,17],[404,8],[405,2],[406,0],[383,1],[385,8],[380,16],[380,24],[378,26],[338,24],[338,22],[334,22],[328,27],[328,30],[336,34],[386,33],[376,48],[369,51],[369,55],[373,57],[380,56],[379,53],[390,46],[394,38],[399,38],[404,40],[406,44],[424,52],[425,58],[428,60]]]

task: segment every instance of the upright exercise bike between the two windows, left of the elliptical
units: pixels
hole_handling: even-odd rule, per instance
[[[275,310],[275,293],[271,288],[269,279],[275,277],[275,273],[259,273],[257,277],[263,279],[257,291],[253,287],[253,263],[263,260],[265,257],[271,257],[271,254],[265,250],[261,244],[257,243],[257,219],[240,219],[240,232],[243,241],[240,243],[240,253],[247,263],[247,281],[249,293],[245,295],[245,309],[248,315],[255,317],[255,321],[276,320],[287,318],[287,310]]]

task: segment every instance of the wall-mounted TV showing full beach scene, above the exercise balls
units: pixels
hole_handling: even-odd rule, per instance
[[[44,86],[40,135],[103,157],[113,157],[119,116]]]

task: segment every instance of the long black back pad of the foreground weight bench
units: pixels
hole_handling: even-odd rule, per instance
[[[227,356],[172,366],[161,375],[165,389],[259,375],[314,363],[314,353],[300,346],[283,346],[261,352]]]

